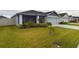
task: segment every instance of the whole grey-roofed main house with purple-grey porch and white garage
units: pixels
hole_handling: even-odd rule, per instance
[[[59,23],[59,17],[55,11],[40,12],[35,10],[29,10],[17,13],[12,18],[16,19],[16,25],[24,24],[29,20],[34,23],[45,23],[45,22],[51,22],[52,24]]]

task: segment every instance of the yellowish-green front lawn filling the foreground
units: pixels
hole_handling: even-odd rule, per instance
[[[54,41],[61,41],[62,48],[75,48],[79,31],[55,27],[49,35],[48,28],[0,27],[0,47],[3,48],[52,48]]]

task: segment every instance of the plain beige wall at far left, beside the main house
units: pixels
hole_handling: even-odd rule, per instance
[[[15,19],[0,19],[0,26],[15,25]]]

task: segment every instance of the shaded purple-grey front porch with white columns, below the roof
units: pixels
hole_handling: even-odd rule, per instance
[[[44,23],[45,22],[45,16],[39,16],[39,15],[18,15],[16,17],[17,24],[24,24],[28,21],[32,21],[33,23]]]

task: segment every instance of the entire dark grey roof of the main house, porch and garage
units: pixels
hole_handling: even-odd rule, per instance
[[[24,11],[24,12],[20,12],[15,14],[16,15],[33,15],[33,16],[46,16],[46,15],[53,15],[53,16],[58,16],[56,11],[50,11],[50,12],[40,12],[40,11],[35,11],[35,10],[29,10],[29,11]],[[12,16],[11,18],[13,18],[14,16]]]

